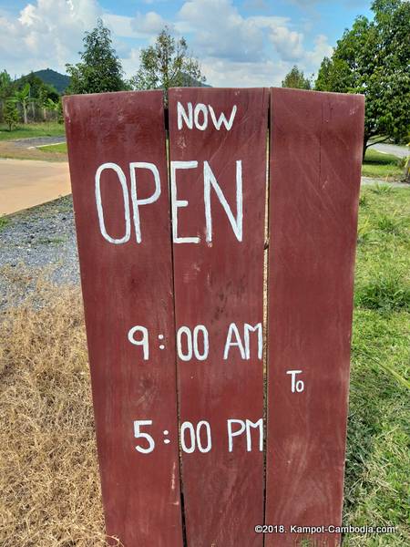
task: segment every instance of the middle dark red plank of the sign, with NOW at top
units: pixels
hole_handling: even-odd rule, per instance
[[[226,123],[220,121],[221,113]],[[188,545],[195,547],[262,544],[261,535],[254,532],[263,515],[263,372],[258,332],[249,333],[249,359],[245,350],[241,356],[239,346],[228,346],[225,359],[224,348],[230,328],[231,341],[237,334],[243,344],[244,325],[262,323],[267,119],[267,89],[169,92],[175,317],[182,351],[178,358],[182,490]],[[217,184],[231,208],[231,221]],[[195,331],[197,325],[203,325],[209,336],[209,354],[203,360],[204,331],[202,327]],[[188,328],[179,331],[180,327]],[[195,354],[194,347],[187,358],[188,336],[195,339],[194,331],[199,348]],[[231,451],[230,419],[241,420],[229,422],[231,433],[245,428],[241,435],[231,436]],[[190,424],[196,435],[202,420],[210,425],[211,449],[208,426],[202,424],[204,450],[196,442],[190,452]],[[251,428],[251,422],[261,429]]]

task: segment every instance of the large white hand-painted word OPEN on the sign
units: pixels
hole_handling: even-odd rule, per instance
[[[178,199],[177,188],[177,172],[179,170],[196,170],[198,169],[198,161],[171,161],[170,162],[170,187],[171,187],[171,205],[172,205],[172,236],[174,243],[200,243],[199,236],[181,237],[178,233],[178,210],[181,207],[188,207],[188,200]],[[205,216],[205,239],[207,243],[212,241],[212,212],[210,207],[210,190],[215,191],[223,210],[226,212],[231,223],[232,231],[236,239],[242,241],[242,222],[243,222],[243,197],[242,197],[242,162],[236,161],[236,215],[231,211],[231,207],[226,200],[220,185],[216,180],[215,175],[210,169],[208,161],[203,162],[203,199],[204,199],[204,216]],[[104,171],[113,170],[117,173],[119,184],[121,185],[122,197],[124,201],[124,235],[120,238],[115,238],[109,235],[104,221],[104,206],[101,198],[101,177]],[[138,177],[137,170],[149,170],[152,173],[154,181],[154,191],[148,198],[138,198]],[[146,161],[133,161],[129,163],[129,178],[131,188],[131,203],[132,203],[132,221],[136,232],[137,243],[142,242],[141,222],[139,218],[139,208],[143,205],[149,205],[158,201],[161,194],[161,181],[159,178],[159,170],[156,165]],[[99,229],[109,243],[120,244],[127,243],[131,237],[131,212],[129,207],[129,194],[127,176],[117,163],[103,163],[96,171],[95,176],[95,192],[98,213]]]

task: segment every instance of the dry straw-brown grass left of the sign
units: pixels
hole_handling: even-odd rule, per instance
[[[0,324],[0,545],[103,546],[80,293],[36,285]]]

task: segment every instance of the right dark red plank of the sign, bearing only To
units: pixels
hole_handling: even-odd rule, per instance
[[[364,99],[272,89],[271,111],[266,523],[288,533],[265,545],[286,547],[341,523]]]

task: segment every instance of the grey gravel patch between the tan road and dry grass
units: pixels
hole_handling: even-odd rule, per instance
[[[79,283],[71,196],[0,218],[0,306],[24,266],[34,281],[45,270],[57,284]]]

